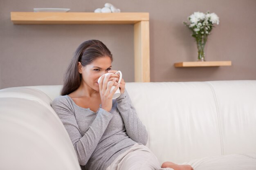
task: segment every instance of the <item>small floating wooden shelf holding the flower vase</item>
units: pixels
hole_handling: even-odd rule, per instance
[[[211,61],[211,62],[178,62],[175,67],[216,67],[231,66],[231,61]]]

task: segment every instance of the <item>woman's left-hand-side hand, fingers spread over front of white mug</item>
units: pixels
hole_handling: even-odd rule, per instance
[[[116,82],[117,78],[113,78],[110,84],[108,82],[110,81],[110,75],[107,75],[105,78],[105,75],[102,75],[101,80],[99,82],[99,93],[101,95],[101,108],[104,110],[110,112],[112,108],[112,97],[119,88],[120,84]],[[115,85],[116,87],[113,89],[113,91],[110,93],[111,87]]]

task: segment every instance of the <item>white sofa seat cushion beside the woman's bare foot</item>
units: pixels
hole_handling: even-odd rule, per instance
[[[182,164],[190,164],[194,170],[256,170],[256,153],[204,157]]]

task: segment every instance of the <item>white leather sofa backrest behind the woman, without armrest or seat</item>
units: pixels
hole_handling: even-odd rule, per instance
[[[29,88],[53,100],[61,87]],[[133,82],[126,89],[160,163],[256,152],[256,80]]]

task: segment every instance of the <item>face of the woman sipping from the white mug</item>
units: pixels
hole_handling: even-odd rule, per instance
[[[101,75],[108,73],[111,67],[111,59],[108,56],[99,57],[86,66],[79,64],[79,73],[82,74],[82,83],[95,91],[99,91],[98,79]]]

